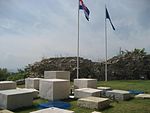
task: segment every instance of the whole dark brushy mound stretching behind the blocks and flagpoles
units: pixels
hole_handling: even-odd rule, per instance
[[[93,62],[79,58],[80,78],[105,79],[105,62]],[[71,80],[76,78],[76,57],[57,57],[42,59],[29,64],[24,70],[9,73],[0,69],[0,80],[18,80],[26,77],[43,77],[44,71],[70,71]],[[119,55],[108,60],[108,80],[150,79],[150,55],[145,49],[121,51]]]

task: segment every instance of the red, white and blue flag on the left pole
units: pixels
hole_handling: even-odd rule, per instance
[[[90,14],[90,11],[89,11],[89,9],[84,5],[84,3],[83,3],[82,0],[80,0],[79,9],[81,9],[81,10],[84,11],[85,18],[89,21],[89,14]]]

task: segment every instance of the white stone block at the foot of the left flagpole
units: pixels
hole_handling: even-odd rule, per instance
[[[81,79],[74,79],[74,88],[95,88],[97,85],[97,79],[88,79],[88,78],[81,78]]]

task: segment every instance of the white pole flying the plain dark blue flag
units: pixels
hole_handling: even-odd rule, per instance
[[[106,11],[106,5],[105,5]],[[107,20],[106,20],[106,12],[105,12],[105,81],[107,82]]]

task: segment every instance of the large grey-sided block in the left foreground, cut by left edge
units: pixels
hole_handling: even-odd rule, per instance
[[[0,106],[13,110],[32,105],[33,94],[31,91],[11,89],[0,91]]]

